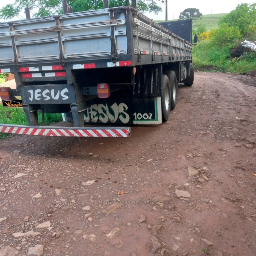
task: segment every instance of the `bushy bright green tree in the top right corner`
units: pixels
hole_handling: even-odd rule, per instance
[[[243,36],[255,33],[256,30],[256,4],[238,4],[236,9],[223,16],[219,24],[238,28]]]

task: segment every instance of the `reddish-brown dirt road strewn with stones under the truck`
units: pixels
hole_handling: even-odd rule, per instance
[[[255,84],[196,73],[128,139],[1,141],[0,255],[255,256]]]

